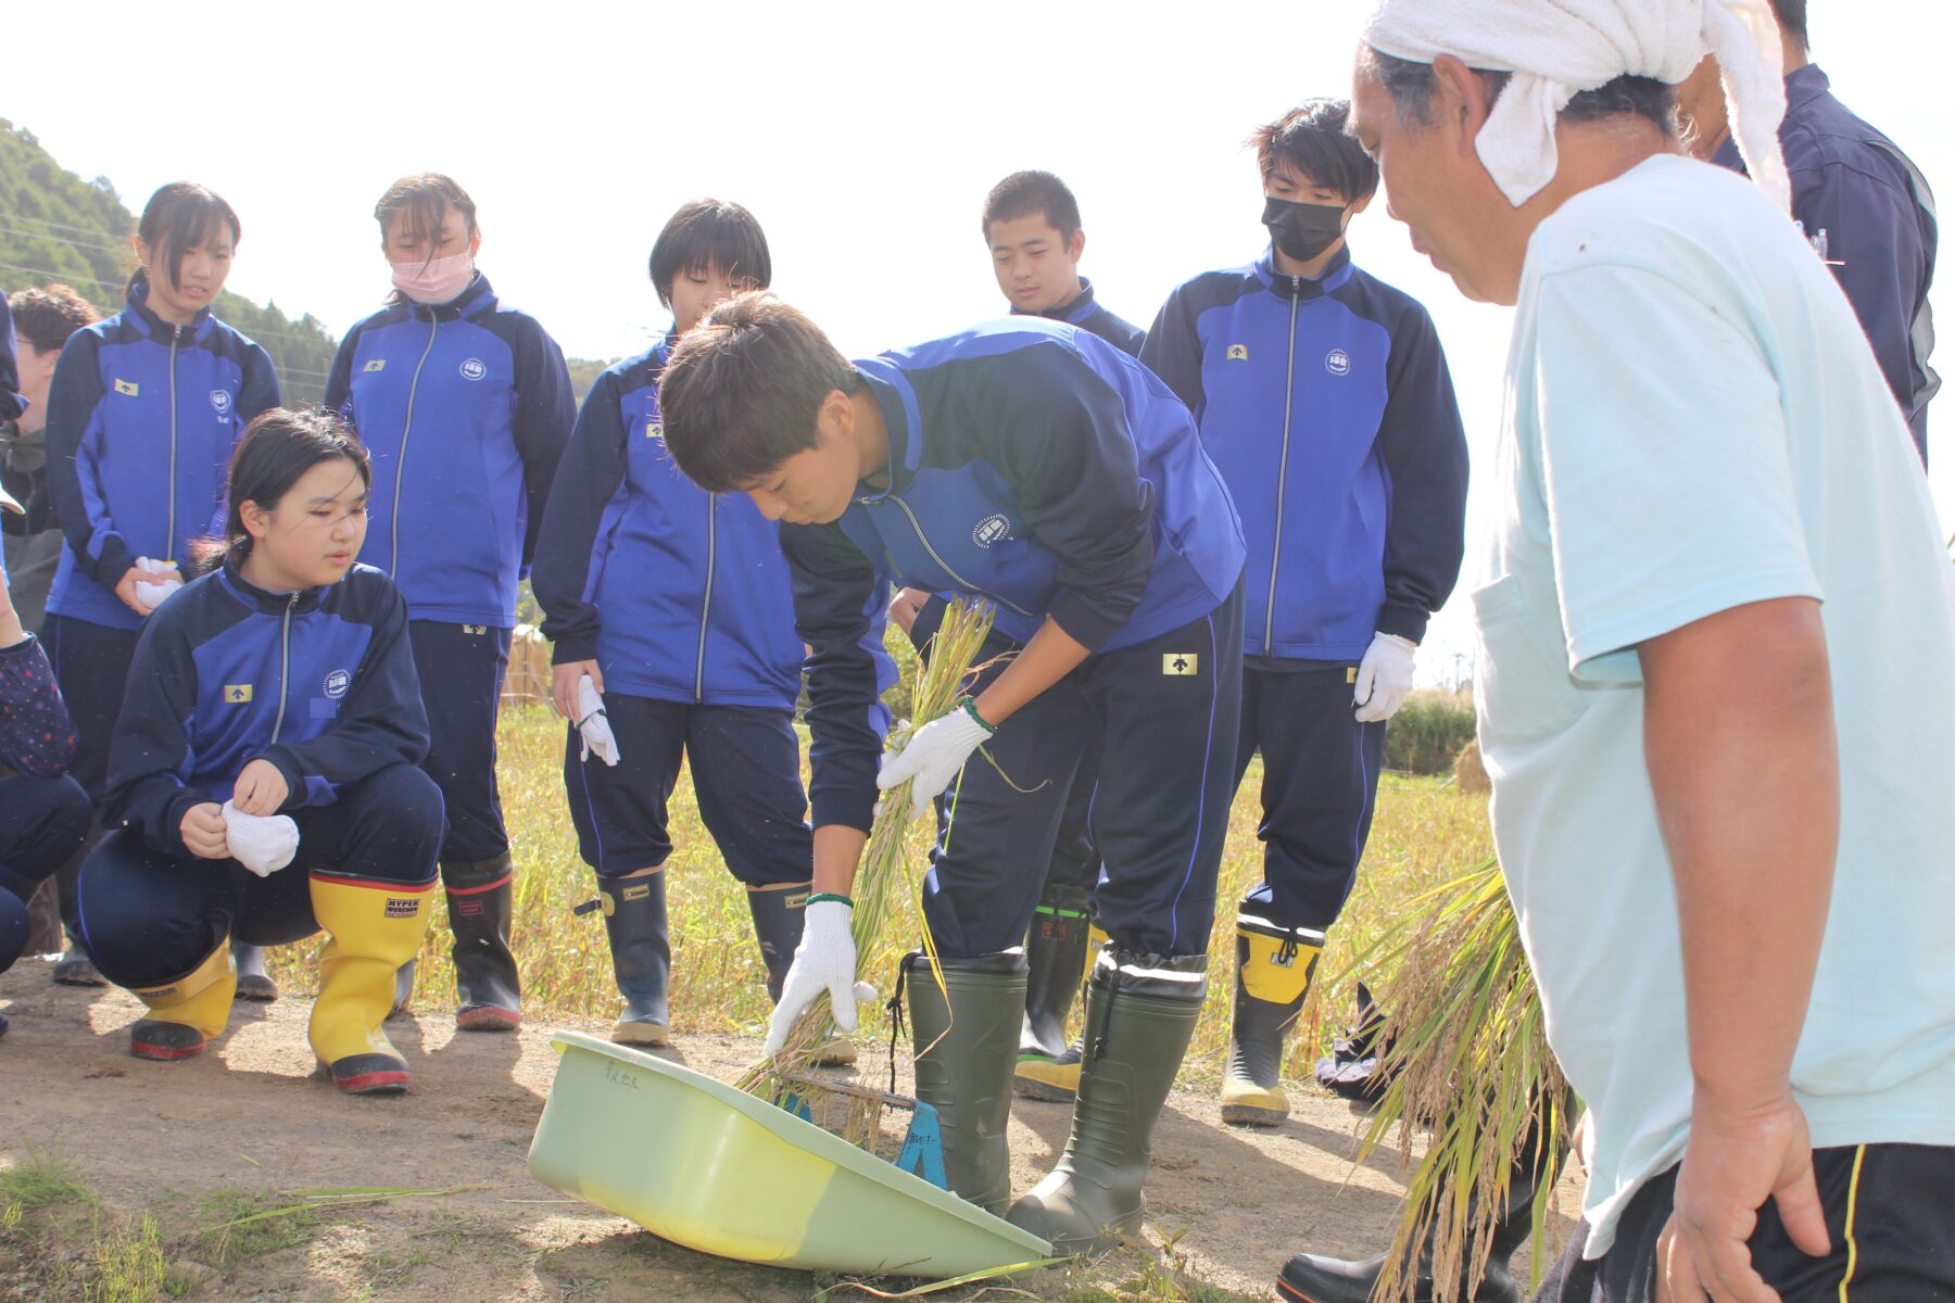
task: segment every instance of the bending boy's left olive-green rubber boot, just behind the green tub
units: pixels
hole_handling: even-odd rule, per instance
[[[942,971],[942,987],[936,973]],[[917,1098],[936,1110],[944,1178],[987,1213],[1011,1199],[1011,1069],[1024,1016],[1024,953],[978,959],[903,957]],[[946,1000],[948,996],[948,1000]]]

